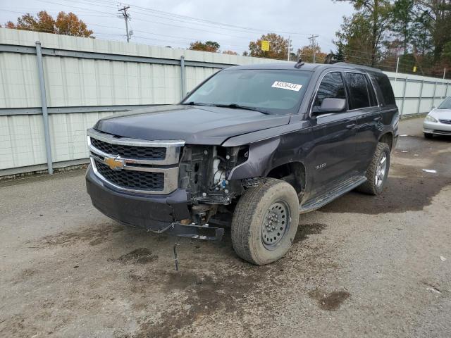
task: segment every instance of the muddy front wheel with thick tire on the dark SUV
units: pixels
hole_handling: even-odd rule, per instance
[[[283,223],[283,219],[288,221]],[[233,249],[249,263],[272,263],[290,249],[298,223],[299,199],[295,189],[285,181],[268,178],[264,184],[247,189],[237,203],[231,228]],[[279,229],[283,231],[278,232]]]

